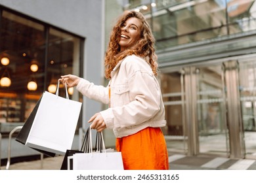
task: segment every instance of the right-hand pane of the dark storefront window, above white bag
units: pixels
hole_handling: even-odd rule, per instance
[[[47,90],[56,92],[56,84],[61,75],[73,73],[79,76],[80,40],[68,33],[50,28],[47,59]],[[64,86],[60,85],[61,88]],[[75,93],[74,93],[75,92]],[[59,95],[64,96],[65,90]],[[78,100],[77,90],[68,88],[71,97]]]

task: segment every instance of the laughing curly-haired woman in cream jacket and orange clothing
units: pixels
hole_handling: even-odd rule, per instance
[[[166,125],[161,90],[156,80],[158,65],[154,37],[140,12],[125,12],[112,31],[105,56],[107,87],[74,75],[62,82],[90,99],[108,103],[109,108],[91,117],[91,128],[113,129],[116,150],[124,169],[169,169],[165,139]]]

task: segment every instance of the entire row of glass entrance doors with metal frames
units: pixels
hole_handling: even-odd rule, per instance
[[[256,159],[255,57],[162,73],[161,90],[169,152]]]

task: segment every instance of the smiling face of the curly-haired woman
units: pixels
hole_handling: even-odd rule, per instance
[[[121,39],[119,41],[121,52],[140,39],[141,29],[142,22],[135,17],[128,18],[124,24],[121,25]]]

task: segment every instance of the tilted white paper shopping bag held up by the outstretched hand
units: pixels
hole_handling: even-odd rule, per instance
[[[56,94],[44,92],[35,114],[26,146],[64,155],[71,149],[81,103]]]

